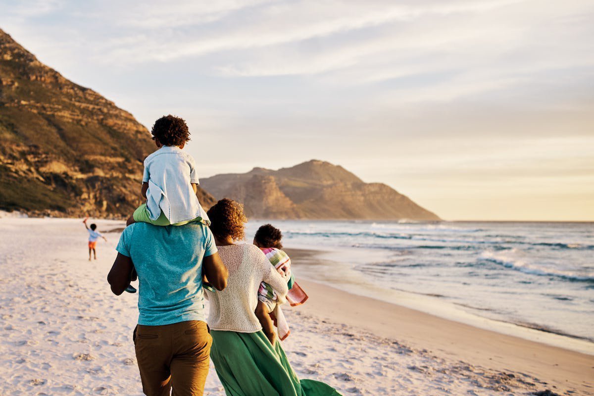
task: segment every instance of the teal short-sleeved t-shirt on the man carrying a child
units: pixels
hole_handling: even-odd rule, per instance
[[[206,321],[202,261],[217,252],[207,226],[134,223],[124,229],[116,250],[132,259],[138,273],[138,324]]]

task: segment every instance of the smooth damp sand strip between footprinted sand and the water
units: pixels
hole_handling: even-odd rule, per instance
[[[320,254],[303,249],[285,250],[297,262],[315,260]],[[448,359],[530,375],[554,386],[557,392],[566,388],[594,392],[594,381],[587,382],[594,378],[592,355],[475,327],[313,280],[298,277],[297,281],[310,297],[297,309],[319,319],[427,349]]]

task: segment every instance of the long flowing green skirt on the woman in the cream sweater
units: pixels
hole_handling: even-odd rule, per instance
[[[213,360],[227,396],[340,396],[320,381],[299,381],[280,346],[262,331],[211,330]]]

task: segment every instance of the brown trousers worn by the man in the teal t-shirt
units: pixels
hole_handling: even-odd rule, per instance
[[[213,338],[205,322],[163,326],[138,325],[134,332],[136,360],[148,396],[202,396]]]

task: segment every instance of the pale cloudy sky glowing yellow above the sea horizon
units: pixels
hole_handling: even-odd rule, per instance
[[[594,220],[594,2],[0,0],[203,177],[311,159],[446,220]]]

